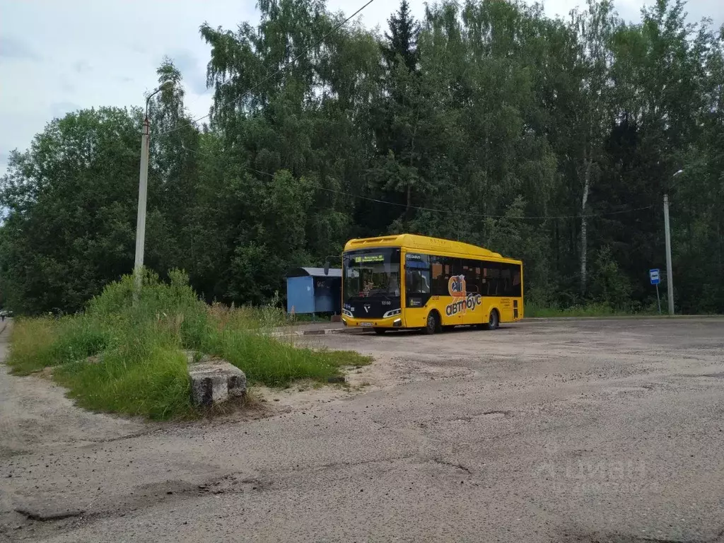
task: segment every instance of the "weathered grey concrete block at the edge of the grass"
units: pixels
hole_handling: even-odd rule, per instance
[[[191,400],[196,405],[213,405],[246,393],[246,376],[233,364],[220,358],[202,358],[189,364]]]

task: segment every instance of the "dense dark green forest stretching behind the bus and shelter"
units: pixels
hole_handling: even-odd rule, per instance
[[[201,26],[209,116],[180,72],[151,100],[146,264],[207,300],[264,303],[351,237],[416,232],[522,258],[542,306],[655,306],[672,224],[676,311],[724,312],[723,29],[658,0],[403,1],[364,28],[324,0]],[[132,270],[143,111],[54,119],[0,181],[0,289],[77,311]],[[674,177],[675,172],[683,172]],[[665,279],[664,279],[665,280]]]

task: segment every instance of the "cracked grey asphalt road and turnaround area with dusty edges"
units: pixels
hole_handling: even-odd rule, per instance
[[[314,341],[374,354],[369,385],[256,420],[0,368],[0,540],[724,542],[723,319]]]

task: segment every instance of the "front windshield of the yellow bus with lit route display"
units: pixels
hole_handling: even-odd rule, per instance
[[[400,249],[349,251],[342,261],[345,300],[400,297]]]

